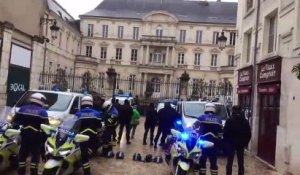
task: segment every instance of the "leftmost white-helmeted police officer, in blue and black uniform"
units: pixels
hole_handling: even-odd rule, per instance
[[[44,109],[46,97],[41,93],[33,93],[29,104],[22,106],[16,113],[12,124],[14,128],[21,128],[21,147],[18,157],[18,174],[25,175],[26,159],[31,155],[31,175],[38,174],[38,163],[41,155],[41,147],[46,136],[41,131],[41,124],[48,124],[48,114]]]

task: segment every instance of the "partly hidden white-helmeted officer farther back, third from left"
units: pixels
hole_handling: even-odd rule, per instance
[[[109,156],[109,152],[112,151],[114,139],[114,132],[118,125],[118,110],[113,106],[111,101],[106,101],[102,105],[103,118],[105,122],[105,130],[103,133],[103,151],[104,156]]]

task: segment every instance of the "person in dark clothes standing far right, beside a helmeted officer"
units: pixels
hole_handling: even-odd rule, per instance
[[[238,158],[238,175],[244,175],[244,149],[251,139],[249,122],[242,114],[240,106],[232,107],[232,116],[224,127],[224,140],[227,145],[226,175],[232,175],[232,163],[235,152]]]

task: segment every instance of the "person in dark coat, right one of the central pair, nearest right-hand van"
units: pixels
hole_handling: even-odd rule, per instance
[[[154,148],[157,148],[161,134],[160,145],[164,147],[167,135],[171,133],[171,128],[174,127],[174,123],[179,118],[180,114],[171,107],[170,102],[165,102],[164,108],[158,111],[158,130],[154,139]]]

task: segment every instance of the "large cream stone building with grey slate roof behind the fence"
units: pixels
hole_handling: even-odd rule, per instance
[[[117,77],[154,84],[176,81],[186,71],[191,81],[233,83],[236,34],[227,34],[223,51],[217,38],[235,29],[236,12],[233,2],[104,0],[80,16],[76,71],[105,75],[114,66]]]

